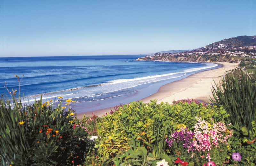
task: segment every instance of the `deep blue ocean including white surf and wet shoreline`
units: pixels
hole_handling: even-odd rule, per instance
[[[84,111],[140,100],[167,83],[218,68],[212,63],[134,61],[141,55],[0,58],[0,94],[17,90],[23,103],[76,100]],[[6,86],[6,87],[4,87]],[[8,94],[10,99],[10,95]],[[74,108],[75,109],[75,108]]]

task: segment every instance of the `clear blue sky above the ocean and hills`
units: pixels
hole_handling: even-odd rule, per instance
[[[195,49],[256,35],[255,0],[1,0],[0,57]]]

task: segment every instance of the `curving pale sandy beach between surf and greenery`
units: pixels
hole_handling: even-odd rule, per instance
[[[160,87],[157,93],[143,98],[141,101],[148,103],[150,100],[157,99],[158,103],[168,102],[172,104],[174,100],[190,98],[207,102],[210,98],[209,96],[212,96],[211,88],[214,85],[214,81],[219,83],[223,74],[238,66],[236,63],[226,62],[216,64],[221,64],[222,66],[217,69],[198,72],[188,76],[187,78],[166,84]],[[98,116],[103,116],[106,112],[109,112],[110,109],[113,109],[113,107],[90,112],[82,112],[77,116],[78,118],[82,118],[84,114],[85,116],[92,116],[92,113]]]

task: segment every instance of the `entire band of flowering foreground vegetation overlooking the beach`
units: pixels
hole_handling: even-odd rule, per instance
[[[12,103],[1,97],[0,165],[254,166],[255,80],[240,76],[212,89],[214,106],[132,102],[83,119],[71,109],[75,101],[22,106],[14,91]]]

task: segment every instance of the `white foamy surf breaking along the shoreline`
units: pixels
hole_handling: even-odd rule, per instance
[[[66,98],[72,99],[72,100],[78,99],[79,102],[104,100],[112,97],[134,93],[134,90],[146,87],[144,86],[145,84],[150,84],[150,83],[163,81],[167,79],[179,78],[187,75],[187,72],[195,72],[195,71],[218,66],[218,64],[211,64],[211,63],[202,63],[202,64],[204,65],[204,67],[187,69],[181,72],[172,72],[167,74],[151,75],[151,76],[131,78],[131,79],[115,79],[115,80],[110,80],[106,83],[101,83],[97,85],[76,87],[76,88],[60,90],[56,92],[31,95],[23,98],[26,101],[23,101],[22,103],[28,103],[28,101],[35,101],[35,98],[36,100],[39,100],[41,95],[43,95],[43,100],[44,100],[43,102],[50,99],[57,98],[58,96],[66,96]],[[112,75],[116,75],[116,74],[112,74]],[[137,87],[137,86],[140,86],[140,87],[135,89],[134,87]]]

